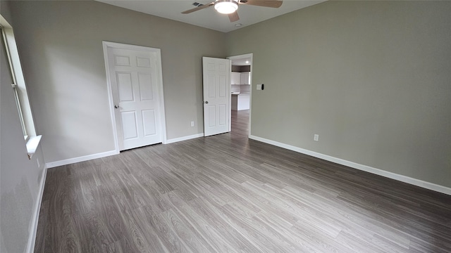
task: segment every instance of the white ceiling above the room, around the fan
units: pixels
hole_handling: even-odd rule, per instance
[[[169,18],[171,20],[178,20],[192,25],[205,27],[220,32],[230,32],[233,30],[253,25],[263,20],[274,18],[278,15],[290,13],[319,4],[326,0],[307,1],[307,0],[285,0],[280,8],[267,8],[260,6],[247,6],[240,4],[238,8],[238,15],[240,20],[230,22],[227,15],[217,13],[213,7],[205,8],[200,11],[195,11],[190,14],[182,14],[182,11],[194,8],[192,3],[194,0],[96,0],[102,3],[111,4],[123,8],[128,8],[133,11],[140,11],[151,15],[156,15],[162,18]],[[213,0],[197,0],[200,4],[209,4]],[[241,27],[236,27],[235,24],[242,24]]]

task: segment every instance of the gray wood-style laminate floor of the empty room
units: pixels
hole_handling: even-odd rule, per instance
[[[49,169],[35,252],[451,252],[451,196],[233,131]]]

